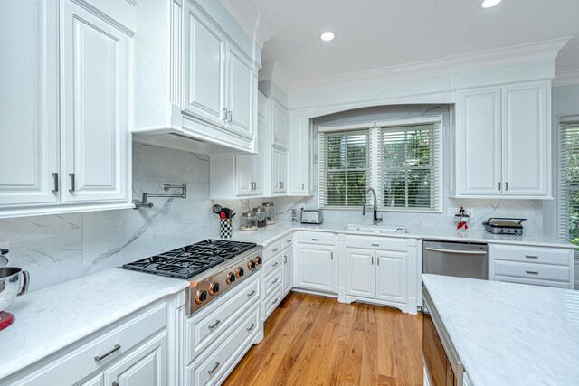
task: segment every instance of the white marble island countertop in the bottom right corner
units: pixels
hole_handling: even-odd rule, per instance
[[[579,291],[422,275],[475,386],[579,380]]]

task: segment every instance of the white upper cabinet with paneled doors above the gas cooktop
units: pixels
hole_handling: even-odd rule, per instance
[[[134,139],[209,155],[255,153],[257,43],[220,2],[137,9]]]

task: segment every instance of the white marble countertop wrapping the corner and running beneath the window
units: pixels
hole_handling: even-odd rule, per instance
[[[328,231],[348,234],[365,234],[373,235],[361,231],[345,231],[347,222],[324,222],[319,225],[305,225],[292,223],[291,221],[276,221],[274,225],[267,226],[258,231],[245,232],[235,230],[232,240],[255,242],[260,245],[267,245],[271,241],[280,239],[291,231]],[[379,236],[399,237],[406,239],[424,239],[424,240],[451,240],[451,241],[470,241],[470,242],[492,242],[497,244],[522,244],[535,245],[541,247],[555,248],[575,248],[573,244],[561,242],[554,237],[549,237],[539,233],[524,233],[522,236],[505,236],[489,233],[485,230],[455,231],[452,228],[407,228],[408,233],[394,234],[377,234]]]

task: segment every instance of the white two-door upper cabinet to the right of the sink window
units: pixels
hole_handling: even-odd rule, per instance
[[[460,91],[455,197],[551,197],[550,82]]]

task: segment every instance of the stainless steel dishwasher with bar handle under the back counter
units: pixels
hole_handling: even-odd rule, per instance
[[[459,278],[489,278],[487,244],[424,240],[422,273]]]

